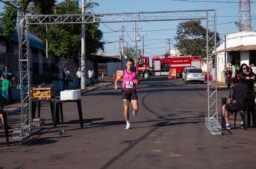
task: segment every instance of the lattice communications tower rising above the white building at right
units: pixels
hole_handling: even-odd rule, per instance
[[[252,31],[251,1],[239,0],[239,32]]]

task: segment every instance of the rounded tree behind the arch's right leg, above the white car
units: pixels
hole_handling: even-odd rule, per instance
[[[206,57],[206,28],[201,26],[201,21],[184,21],[178,24],[175,37],[177,47],[183,55],[199,55]],[[209,34],[214,32],[209,30]],[[219,44],[219,34],[216,33],[216,42]],[[209,42],[209,49],[214,46],[214,39]],[[211,52],[211,51],[209,51]]]

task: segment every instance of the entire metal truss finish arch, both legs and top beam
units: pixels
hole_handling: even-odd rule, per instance
[[[83,19],[85,16],[85,19]],[[118,23],[134,21],[206,21],[207,36],[207,65],[209,58],[216,53],[216,11],[190,10],[190,11],[145,11],[115,14],[63,14],[63,15],[26,15],[18,16],[19,25],[19,72],[21,86],[21,118],[22,127],[14,130],[14,140],[22,140],[29,137],[37,130],[37,125],[32,123],[31,98],[30,98],[30,62],[29,62],[29,25],[37,24],[94,24],[94,23]],[[211,32],[214,32],[212,34]],[[209,49],[209,45],[213,45]],[[216,57],[215,57],[216,59]],[[216,74],[216,73],[215,73]],[[217,79],[217,78],[216,78]],[[209,78],[208,78],[209,81]],[[207,83],[209,84],[209,83]],[[208,115],[206,126],[213,135],[221,134],[218,122],[217,87],[213,90],[207,87]]]

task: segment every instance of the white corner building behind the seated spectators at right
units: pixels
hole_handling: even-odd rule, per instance
[[[234,64],[239,69],[243,63],[256,64],[256,32],[229,34],[216,52],[218,81],[224,82],[224,65]]]

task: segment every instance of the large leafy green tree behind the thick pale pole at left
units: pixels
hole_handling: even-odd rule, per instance
[[[95,6],[87,5],[87,6]],[[55,14],[81,14],[81,8],[78,0],[65,0],[57,4],[53,11]],[[63,59],[78,59],[81,54],[81,24],[65,24],[52,26],[51,31],[47,32],[47,40],[49,41],[50,54],[56,57],[63,57]],[[64,33],[65,32],[65,33]],[[55,35],[54,35],[55,34]],[[55,36],[63,38],[55,39]],[[68,37],[70,39],[68,39]],[[97,52],[98,49],[103,49],[104,43],[101,42],[102,32],[99,29],[99,24],[86,24],[86,55]],[[41,36],[40,36],[41,37]],[[66,49],[65,45],[68,44],[70,49]],[[63,47],[63,49],[61,48]],[[60,50],[61,52],[58,52]]]

